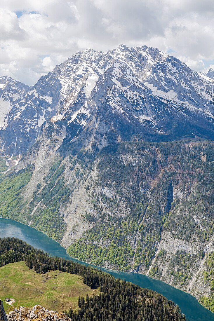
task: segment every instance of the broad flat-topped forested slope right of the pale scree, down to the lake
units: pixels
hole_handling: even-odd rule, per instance
[[[94,226],[68,253],[209,297],[204,271],[213,251],[213,155],[208,142],[121,143],[101,150],[96,179],[87,186]]]

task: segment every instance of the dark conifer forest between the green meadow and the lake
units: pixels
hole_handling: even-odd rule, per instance
[[[17,261],[25,261],[29,269],[36,273],[60,270],[83,277],[83,282],[91,288],[100,288],[100,294],[79,298],[79,310],[69,309],[65,313],[74,320],[103,321],[185,321],[180,308],[161,294],[140,288],[130,282],[115,279],[108,273],[86,267],[69,260],[50,257],[41,250],[34,249],[26,242],[14,239],[0,239],[0,266]]]

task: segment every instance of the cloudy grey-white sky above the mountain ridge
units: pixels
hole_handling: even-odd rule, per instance
[[[33,85],[86,48],[152,46],[214,67],[214,0],[1,0],[0,75]]]

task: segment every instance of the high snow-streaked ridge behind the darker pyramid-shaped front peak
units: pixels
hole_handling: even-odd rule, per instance
[[[193,72],[177,58],[147,46],[128,48],[120,45],[106,53],[87,49],[74,54],[57,65],[51,73],[42,76],[34,86],[25,90],[22,99],[14,103],[8,114],[9,123],[0,130],[2,154],[11,157],[13,154],[26,152],[36,141],[42,124],[49,124],[51,119],[52,123],[56,123],[67,118],[67,123],[64,124],[66,135],[74,138],[78,130],[82,130],[90,121],[88,102],[98,79],[116,61],[125,63],[136,79],[146,84],[152,94],[162,100],[162,105],[167,105],[166,109],[176,106],[187,117],[191,114],[193,123],[198,122],[194,119],[195,116],[202,117],[205,122],[201,129],[202,136],[204,128],[213,126],[214,83]],[[131,94],[134,95],[134,92]],[[99,95],[94,96],[94,100],[99,99]],[[80,106],[85,106],[83,113],[78,111]],[[75,117],[77,111],[79,119],[81,118],[79,124]],[[161,112],[160,107],[152,116],[159,118]],[[149,117],[147,114],[141,114],[144,127],[158,133],[159,126],[156,127],[146,118]],[[164,114],[163,112],[163,117]],[[185,117],[179,116],[186,122]],[[168,135],[166,128],[162,128],[162,131]],[[211,139],[214,137],[210,132],[206,135]]]

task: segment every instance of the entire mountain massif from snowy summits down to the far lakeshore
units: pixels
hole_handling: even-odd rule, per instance
[[[145,273],[214,312],[214,71],[156,48],[0,77],[0,216],[79,260]]]

